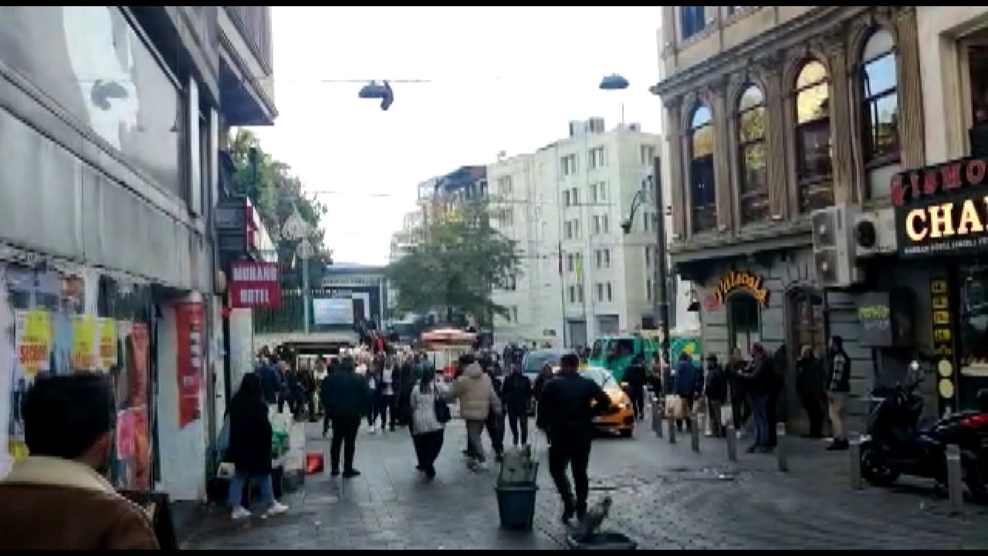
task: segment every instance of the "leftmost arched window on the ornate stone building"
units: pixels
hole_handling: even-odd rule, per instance
[[[693,231],[706,232],[717,226],[717,205],[713,183],[713,120],[705,105],[694,109],[687,141]]]

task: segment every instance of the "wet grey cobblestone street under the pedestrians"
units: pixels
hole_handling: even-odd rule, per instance
[[[311,427],[310,451],[327,448]],[[847,453],[819,441],[790,439],[790,472],[771,455],[743,453],[728,464],[722,440],[704,438],[701,453],[689,436],[670,445],[646,427],[633,439],[602,438],[594,445],[591,502],[615,500],[608,527],[640,549],[876,549],[988,548],[988,511],[967,506],[952,516],[931,485],[854,492]],[[319,549],[557,549],[564,539],[560,507],[539,442],[542,468],[532,533],[498,527],[493,471],[464,469],[462,423],[453,422],[426,483],[414,469],[408,431],[371,435],[362,430],[357,466],[364,475],[343,481],[308,477],[289,495],[288,514],[233,524],[213,510],[187,548]]]

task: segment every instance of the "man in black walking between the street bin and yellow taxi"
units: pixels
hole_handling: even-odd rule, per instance
[[[580,358],[575,353],[563,355],[560,363],[559,376],[542,392],[536,422],[549,438],[549,473],[562,497],[562,520],[569,521],[574,513],[583,518],[587,512],[593,420],[610,411],[611,399],[596,382],[580,376]],[[566,477],[567,467],[573,470],[575,503]]]

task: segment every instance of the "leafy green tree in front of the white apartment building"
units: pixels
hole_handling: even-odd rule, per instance
[[[514,280],[520,261],[517,242],[490,226],[486,201],[464,199],[427,223],[424,240],[388,265],[386,275],[401,311],[439,311],[449,323],[463,315],[489,324],[494,314],[508,313],[491,290]]]

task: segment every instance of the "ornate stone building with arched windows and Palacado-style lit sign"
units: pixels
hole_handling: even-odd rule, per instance
[[[665,116],[671,256],[696,285],[704,348],[723,357],[760,341],[776,352],[797,423],[795,357],[804,346],[822,355],[841,335],[860,416],[873,384],[933,348],[928,269],[897,256],[888,226],[891,180],[923,166],[929,146],[917,9],[668,6],[664,16],[652,91]],[[903,290],[912,301],[892,303]],[[891,309],[901,333],[869,335]]]

